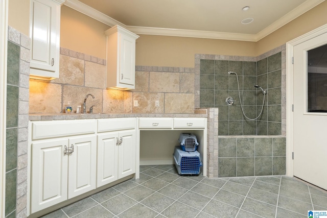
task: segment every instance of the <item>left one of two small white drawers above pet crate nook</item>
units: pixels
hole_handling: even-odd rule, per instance
[[[168,117],[143,117],[139,118],[139,129],[171,129],[173,127],[173,119]]]

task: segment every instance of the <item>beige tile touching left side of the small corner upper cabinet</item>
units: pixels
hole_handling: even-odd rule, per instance
[[[106,66],[85,61],[85,86],[106,88]]]

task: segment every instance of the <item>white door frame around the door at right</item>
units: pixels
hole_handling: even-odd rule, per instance
[[[327,33],[327,24],[312,30],[306,34],[303,34],[289,42],[286,43],[286,175],[294,176],[294,161],[292,158],[292,153],[294,151],[294,113],[292,111],[294,104],[294,68],[292,59],[294,57],[294,46],[323,33]],[[327,40],[326,40],[327,42]]]

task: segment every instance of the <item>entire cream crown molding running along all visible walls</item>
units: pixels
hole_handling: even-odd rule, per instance
[[[119,25],[135,34],[141,35],[158,35],[158,36],[178,36],[178,37],[192,37],[192,38],[207,38],[207,39],[225,39],[225,40],[238,40],[238,41],[252,41],[256,42],[266,37],[275,30],[283,27],[288,22],[292,21],[301,14],[309,11],[325,0],[307,0],[297,8],[290,11],[285,16],[273,22],[270,26],[259,32],[258,34],[240,34],[240,33],[225,33],[213,31],[197,31],[197,30],[182,30],[182,29],[168,29],[168,28],[150,28],[150,27],[135,27],[126,26],[124,23],[115,20],[94,8],[91,8],[78,0],[67,0],[64,5],[83,13],[91,18],[94,18],[109,27]]]

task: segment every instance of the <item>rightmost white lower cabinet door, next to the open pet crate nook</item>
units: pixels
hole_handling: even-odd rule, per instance
[[[118,179],[135,173],[136,138],[135,130],[119,133],[121,144],[118,146]]]

